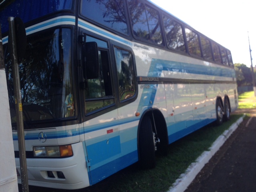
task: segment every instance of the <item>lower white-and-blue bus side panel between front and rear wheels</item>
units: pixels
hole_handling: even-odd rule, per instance
[[[216,92],[213,89],[212,84],[171,84],[166,86],[169,143],[216,119]]]

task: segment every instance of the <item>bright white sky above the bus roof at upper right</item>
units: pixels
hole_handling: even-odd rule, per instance
[[[256,11],[252,0],[151,0],[231,51],[233,63],[256,66]],[[254,60],[255,59],[255,60]]]

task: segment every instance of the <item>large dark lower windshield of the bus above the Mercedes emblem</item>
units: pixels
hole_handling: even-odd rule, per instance
[[[16,122],[12,62],[4,47],[12,123]],[[24,122],[74,116],[71,30],[45,30],[27,37],[19,64]]]

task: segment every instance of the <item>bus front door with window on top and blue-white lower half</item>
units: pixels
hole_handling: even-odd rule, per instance
[[[86,42],[98,46],[99,74],[85,80],[83,88],[86,166],[90,184],[95,184],[119,170],[121,148],[108,42],[89,35]]]

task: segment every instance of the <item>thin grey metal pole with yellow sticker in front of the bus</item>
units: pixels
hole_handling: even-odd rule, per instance
[[[12,56],[12,74],[14,84],[14,98],[15,98],[15,110],[17,119],[17,133],[18,144],[20,154],[20,176],[22,183],[22,192],[28,192],[28,174],[27,174],[27,162],[26,162],[26,148],[25,148],[25,136],[22,114],[22,100],[20,92],[20,74],[18,66],[18,54],[16,47],[16,33],[15,33],[15,21],[14,17],[9,17],[9,37],[8,46],[10,46]]]

